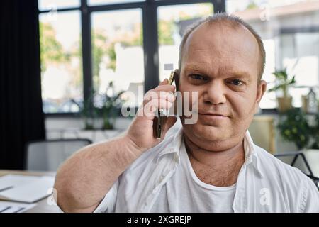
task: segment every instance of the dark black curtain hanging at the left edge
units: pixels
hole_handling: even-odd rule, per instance
[[[0,169],[22,169],[25,145],[45,138],[37,0],[0,1]]]

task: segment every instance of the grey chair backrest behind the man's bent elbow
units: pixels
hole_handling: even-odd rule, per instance
[[[38,140],[26,145],[25,169],[57,171],[57,168],[74,152],[91,144],[89,139]]]

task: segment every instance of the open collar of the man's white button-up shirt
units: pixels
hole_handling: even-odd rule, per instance
[[[180,155],[179,149],[181,147],[181,141],[183,137],[183,127],[181,123],[177,123],[179,126],[173,126],[174,129],[172,131],[167,132],[167,137],[162,141],[164,143],[164,150],[157,155],[157,162],[163,155],[174,155],[174,160],[179,163]],[[170,135],[169,135],[170,134]],[[244,150],[245,150],[245,162],[244,165],[252,165],[254,169],[257,171],[259,176],[262,176],[262,172],[259,168],[259,160],[257,156],[257,150],[252,141],[252,137],[250,136],[249,131],[247,130],[244,136]]]

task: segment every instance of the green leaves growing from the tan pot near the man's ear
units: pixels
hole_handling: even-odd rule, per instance
[[[274,92],[276,90],[281,89],[283,92],[283,96],[286,98],[289,96],[288,89],[292,84],[296,83],[295,76],[289,79],[289,75],[287,73],[287,68],[284,70],[277,70],[273,72],[274,76],[276,77],[276,86],[272,89],[269,89],[269,92]]]

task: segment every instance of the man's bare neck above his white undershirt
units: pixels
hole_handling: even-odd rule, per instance
[[[228,150],[205,150],[184,136],[189,160],[201,181],[216,187],[227,187],[237,182],[238,173],[245,162],[243,142]]]

